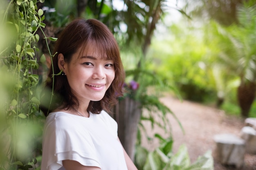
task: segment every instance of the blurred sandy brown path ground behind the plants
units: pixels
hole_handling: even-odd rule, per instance
[[[173,116],[169,115],[168,119],[172,125],[172,135],[174,139],[173,152],[181,144],[186,144],[191,158],[191,162],[195,161],[198,156],[203,155],[207,150],[214,151],[215,142],[213,137],[220,133],[232,133],[239,135],[240,130],[245,126],[244,119],[226,115],[224,111],[202,104],[175,99],[171,96],[162,97],[161,101],[166,104],[180,120],[185,134],[183,134],[180,126]],[[168,137],[161,128],[151,130],[149,122],[145,122],[144,126],[148,129],[148,135],[153,135],[155,132],[162,134],[163,137]],[[145,138],[142,140],[142,146],[149,150],[157,147],[158,140],[155,139],[148,142]],[[234,167],[222,166],[214,157],[215,170],[235,170]],[[245,165],[240,170],[256,170],[256,155],[245,154]]]

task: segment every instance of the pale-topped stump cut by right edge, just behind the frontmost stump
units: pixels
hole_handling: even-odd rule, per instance
[[[245,140],[245,149],[248,153],[256,154],[256,130],[245,126],[241,130],[241,138]]]

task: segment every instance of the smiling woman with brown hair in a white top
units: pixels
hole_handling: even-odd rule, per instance
[[[46,81],[54,95],[42,102],[41,170],[137,170],[106,113],[122,95],[125,77],[111,31],[98,20],[76,19],[54,53]]]

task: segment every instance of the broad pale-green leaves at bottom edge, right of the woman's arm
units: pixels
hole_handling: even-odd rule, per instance
[[[184,144],[177,153],[172,152],[172,139],[162,139],[161,146],[148,152],[141,146],[137,146],[135,163],[139,170],[213,170],[213,157],[211,151],[198,157],[194,163],[190,163],[189,153]]]

